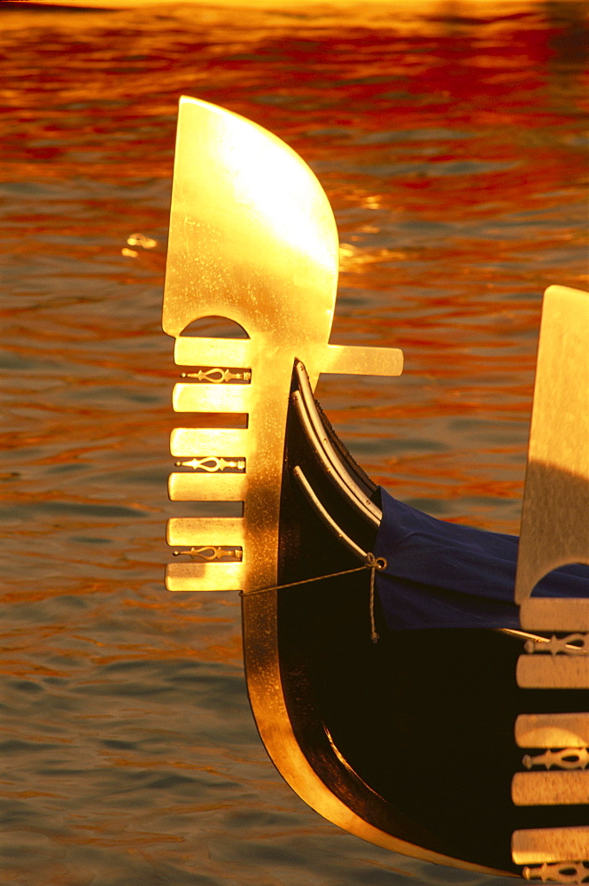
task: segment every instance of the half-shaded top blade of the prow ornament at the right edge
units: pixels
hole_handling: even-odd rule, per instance
[[[546,572],[589,563],[588,355],[589,293],[550,286],[542,307],[523,491],[518,603]]]

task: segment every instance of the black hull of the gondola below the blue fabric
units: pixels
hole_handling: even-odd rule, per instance
[[[345,447],[336,445],[346,458]],[[301,492],[296,465],[360,547],[370,550],[376,534],[330,482],[291,408],[280,585],[359,566]],[[376,487],[349,458],[347,466],[377,499]],[[511,859],[512,833],[585,824],[586,806],[512,803],[511,780],[523,769],[515,719],[582,711],[585,693],[518,688],[523,643],[506,633],[389,632],[377,601],[375,618],[377,643],[370,640],[368,569],[278,591],[283,696],[306,760],[333,794],[379,830],[464,867],[520,874]]]

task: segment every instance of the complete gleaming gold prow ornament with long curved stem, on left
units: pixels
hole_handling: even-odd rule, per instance
[[[242,590],[244,663],[262,741],[283,778],[341,828],[393,851],[453,867],[497,873],[400,840],[360,818],[322,782],[293,734],[277,651],[278,517],[291,374],[302,361],[312,388],[321,372],[395,376],[397,349],[329,344],[336,303],[337,229],[321,185],[280,139],[249,120],[182,97],[164,293],[163,327],[182,367],[251,369],[247,430],[177,428],[172,455],[246,460],[244,517],[170,521],[173,545],[236,545],[243,563],[171,563],[170,590]],[[204,316],[238,323],[248,339],[190,338]],[[180,404],[195,403],[178,395]],[[217,408],[215,408],[217,411]],[[205,414],[205,412],[203,413]],[[210,474],[213,498],[220,477]],[[174,485],[178,481],[174,480]],[[181,485],[182,486],[182,485]],[[175,486],[174,486],[175,488]],[[204,488],[199,487],[199,488]],[[203,497],[204,493],[199,493]],[[205,524],[209,528],[205,532]],[[230,529],[230,531],[229,531]]]

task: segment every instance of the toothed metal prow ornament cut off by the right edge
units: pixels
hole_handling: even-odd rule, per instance
[[[516,678],[523,689],[556,690],[549,697],[558,712],[517,718],[515,741],[535,753],[523,757],[528,772],[515,773],[511,785],[515,805],[554,807],[546,812],[554,827],[512,836],[515,864],[542,882],[589,882],[589,711],[571,710],[571,694],[560,691],[589,688],[589,598],[532,595],[548,571],[589,563],[588,352],[589,294],[551,286],[540,328],[515,601],[524,631],[552,636],[526,642]],[[586,695],[572,696],[585,706]],[[559,823],[563,807],[571,810],[566,825]]]

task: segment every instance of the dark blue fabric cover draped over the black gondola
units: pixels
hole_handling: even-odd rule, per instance
[[[519,629],[517,536],[445,523],[380,492],[383,520],[374,553],[388,566],[376,572],[376,591],[391,630]],[[589,596],[589,567],[575,564],[551,572],[534,595]]]

